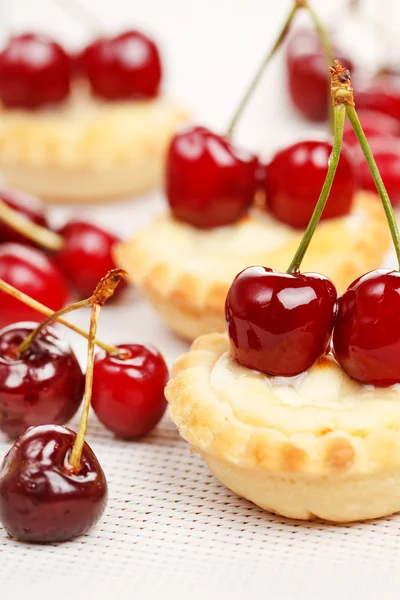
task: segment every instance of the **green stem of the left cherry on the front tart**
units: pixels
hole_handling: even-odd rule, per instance
[[[340,150],[342,148],[344,121],[346,118],[346,107],[344,104],[338,104],[334,107],[334,140],[331,155],[329,157],[329,167],[326,174],[325,182],[322,187],[321,193],[318,198],[317,205],[314,209],[310,222],[303,235],[300,245],[293,257],[292,262],[287,270],[288,273],[297,273],[300,269],[301,262],[307,252],[308,246],[310,245],[311,239],[314,235],[315,229],[319,223],[322,212],[325,208],[326,202],[329,198],[333,179],[335,177],[336,169],[339,163]]]

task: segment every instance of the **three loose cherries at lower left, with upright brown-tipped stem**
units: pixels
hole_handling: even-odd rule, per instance
[[[0,467],[0,521],[20,540],[69,540],[100,519],[107,481],[84,441],[91,405],[125,439],[148,434],[165,411],[168,369],[155,348],[123,344],[94,358],[99,310],[122,275],[111,271],[93,294],[85,381],[68,345],[44,328],[48,321],[40,329],[17,323],[0,332],[0,426],[13,437],[22,433]],[[76,434],[61,424],[82,394]]]

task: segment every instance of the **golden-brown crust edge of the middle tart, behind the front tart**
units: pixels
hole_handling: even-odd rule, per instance
[[[324,222],[320,238],[317,236],[316,244],[311,244],[303,263],[303,271],[318,271],[330,277],[339,293],[363,273],[379,267],[390,243],[379,198],[369,192],[359,192],[356,204],[367,212],[367,226],[357,231],[344,246],[341,230],[335,231],[334,222]],[[329,237],[329,252],[326,246],[324,251],[319,251],[321,245],[326,245],[324,231]],[[196,275],[177,271],[175,264],[163,261],[161,256],[146,249],[142,241],[151,237],[151,232],[152,225],[117,246],[117,264],[128,271],[132,283],[142,288],[160,316],[179,336],[192,341],[204,333],[224,331],[224,304],[230,282],[199,281]],[[285,270],[297,243],[298,238],[294,238],[275,251],[275,255],[260,257],[259,264]]]

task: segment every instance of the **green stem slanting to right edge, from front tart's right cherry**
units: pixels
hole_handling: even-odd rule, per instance
[[[375,182],[376,189],[377,189],[380,199],[382,201],[382,205],[383,205],[384,211],[386,213],[387,222],[389,224],[390,233],[391,233],[392,239],[393,239],[394,249],[396,251],[397,262],[399,263],[399,268],[400,268],[400,234],[399,234],[399,228],[397,226],[396,218],[394,216],[394,212],[393,212],[392,204],[390,202],[389,195],[386,191],[385,184],[382,181],[382,177],[379,173],[374,156],[371,152],[371,148],[369,147],[367,138],[365,137],[363,128],[361,126],[361,123],[359,121],[359,118],[357,116],[354,106],[347,105],[346,112],[347,112],[348,119],[354,129],[354,133],[356,134],[357,139],[360,143],[361,149],[364,152],[364,156],[368,163],[369,170],[371,171],[371,175]]]

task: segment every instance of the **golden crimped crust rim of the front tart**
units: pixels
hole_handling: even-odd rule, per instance
[[[396,428],[288,435],[238,420],[209,384],[213,365],[227,349],[225,334],[199,338],[176,362],[166,388],[170,417],[194,449],[272,474],[354,476],[400,468]]]

